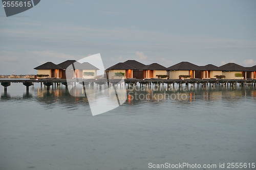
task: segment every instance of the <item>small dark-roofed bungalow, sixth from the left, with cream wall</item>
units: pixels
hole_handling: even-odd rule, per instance
[[[166,75],[167,68],[158,64],[152,63],[145,65],[143,68],[144,78],[158,78],[158,75]]]

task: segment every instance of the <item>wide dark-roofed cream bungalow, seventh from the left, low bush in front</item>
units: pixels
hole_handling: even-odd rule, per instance
[[[182,76],[190,76],[190,78],[202,79],[201,68],[190,62],[180,62],[167,68],[169,79],[181,79]]]

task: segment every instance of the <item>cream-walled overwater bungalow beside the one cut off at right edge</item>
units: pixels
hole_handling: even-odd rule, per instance
[[[247,72],[250,74],[248,68],[236,63],[227,63],[219,68],[222,70],[222,75],[226,76],[225,79],[244,79],[247,78]]]

